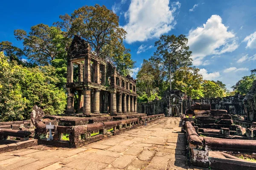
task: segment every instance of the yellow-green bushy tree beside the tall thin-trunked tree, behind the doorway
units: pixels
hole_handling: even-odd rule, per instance
[[[198,74],[199,68],[181,67],[173,77],[173,86],[186,93],[192,99],[200,99],[203,97],[202,82],[203,76]]]

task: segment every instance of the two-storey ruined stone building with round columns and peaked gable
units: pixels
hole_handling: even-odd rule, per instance
[[[79,36],[74,37],[68,52],[67,91],[66,113],[137,112],[136,80],[120,75],[110,62],[93,55],[90,45]]]

